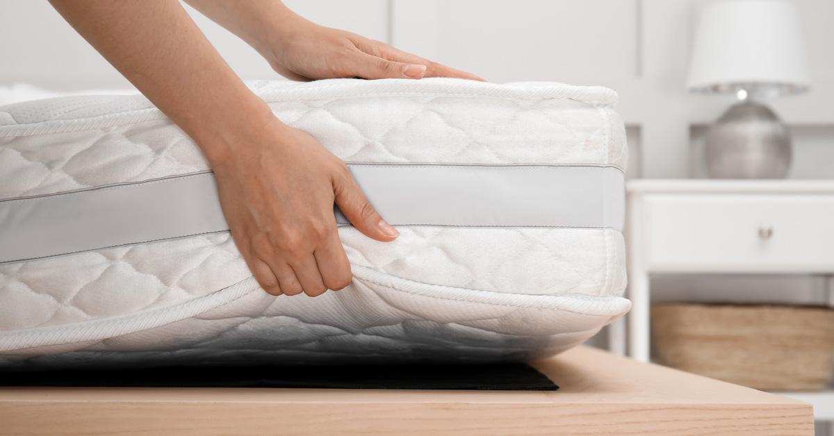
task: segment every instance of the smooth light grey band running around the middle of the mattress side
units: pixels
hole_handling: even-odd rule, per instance
[[[621,229],[623,173],[547,165],[349,165],[400,226]],[[336,211],[339,224],[349,224]],[[214,174],[0,201],[0,263],[228,230]]]

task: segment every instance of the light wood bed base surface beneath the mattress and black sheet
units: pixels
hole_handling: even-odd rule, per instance
[[[808,403],[593,348],[535,367],[561,389],[0,388],[0,433],[813,433]]]

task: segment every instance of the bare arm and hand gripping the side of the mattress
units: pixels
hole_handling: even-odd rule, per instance
[[[344,163],[274,118],[177,0],[52,3],[203,149],[234,241],[269,293],[315,296],[349,284],[334,202],[369,237],[396,238]]]

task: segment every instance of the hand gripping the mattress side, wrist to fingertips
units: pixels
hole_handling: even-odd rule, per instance
[[[344,288],[352,273],[334,203],[370,238],[391,241],[399,233],[348,167],[309,134],[275,118],[250,127],[232,137],[234,151],[212,159],[226,221],[249,269],[273,295]]]

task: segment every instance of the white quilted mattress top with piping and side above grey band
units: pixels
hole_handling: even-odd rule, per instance
[[[285,123],[347,162],[625,168],[625,129],[607,88],[446,78],[251,87]],[[190,138],[141,95],[0,107],[0,145],[0,199],[209,169]]]

